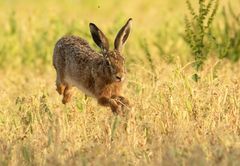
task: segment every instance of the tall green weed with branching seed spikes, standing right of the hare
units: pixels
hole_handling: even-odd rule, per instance
[[[195,12],[189,0],[186,0],[186,4],[191,18],[185,17],[184,39],[191,48],[195,59],[194,67],[198,72],[202,69],[211,48],[209,36],[212,36],[211,26],[218,9],[218,0],[209,0],[208,3],[198,0],[198,13]],[[200,77],[195,73],[193,79],[198,81]]]

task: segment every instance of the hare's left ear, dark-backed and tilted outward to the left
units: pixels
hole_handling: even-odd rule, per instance
[[[109,49],[107,37],[95,24],[90,23],[89,28],[94,42],[102,49],[102,51],[107,51]]]

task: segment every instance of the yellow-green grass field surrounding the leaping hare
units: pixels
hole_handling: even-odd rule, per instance
[[[229,1],[220,1],[214,26]],[[231,3],[238,11],[240,3]],[[1,0],[0,10],[0,165],[240,164],[240,62],[212,51],[201,80],[192,80],[185,1]],[[130,17],[129,113],[115,116],[77,89],[63,105],[55,42],[75,34],[97,49],[94,22],[113,44]]]

